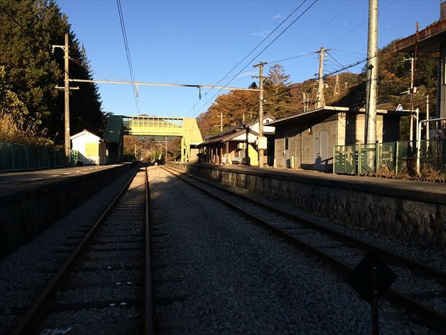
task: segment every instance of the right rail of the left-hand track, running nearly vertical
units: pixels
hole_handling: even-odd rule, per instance
[[[155,309],[155,300],[153,299],[153,285],[152,285],[152,263],[151,263],[151,232],[150,232],[150,218],[149,218],[149,201],[151,198],[150,195],[150,188],[148,184],[148,173],[147,173],[147,167],[146,167],[146,264],[144,269],[144,308],[142,308],[142,311],[144,311],[144,322],[142,322],[142,325],[144,325],[143,332],[141,334],[145,335],[152,335],[155,334],[155,321],[153,317],[153,311]]]

